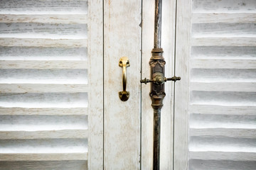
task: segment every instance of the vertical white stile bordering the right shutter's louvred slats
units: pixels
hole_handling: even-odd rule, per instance
[[[188,98],[191,50],[191,0],[177,1],[176,75],[174,103],[174,169],[188,169]]]

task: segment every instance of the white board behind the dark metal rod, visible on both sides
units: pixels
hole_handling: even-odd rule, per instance
[[[163,1],[162,40],[166,61],[166,77],[174,75],[174,33],[175,1]],[[154,47],[154,5],[153,1],[143,1],[142,9],[142,78],[150,78],[149,60]],[[173,82],[165,84],[166,97],[161,109],[161,169],[172,169],[173,164]],[[150,85],[142,84],[142,169],[152,169],[153,165],[153,108],[149,97]]]

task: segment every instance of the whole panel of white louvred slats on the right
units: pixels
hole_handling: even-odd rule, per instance
[[[189,167],[256,169],[256,1],[194,0]]]

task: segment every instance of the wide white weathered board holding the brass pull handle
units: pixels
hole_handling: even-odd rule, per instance
[[[104,169],[139,169],[142,2],[104,1]],[[128,57],[128,101],[121,101],[122,68]],[[97,63],[102,65],[101,63]]]

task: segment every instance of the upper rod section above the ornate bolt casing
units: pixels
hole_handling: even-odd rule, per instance
[[[161,8],[162,1],[155,1],[155,21],[154,21],[154,48],[161,48]]]

